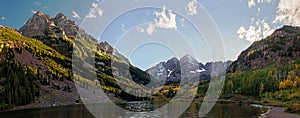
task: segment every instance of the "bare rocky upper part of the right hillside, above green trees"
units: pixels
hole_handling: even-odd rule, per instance
[[[228,71],[256,70],[299,59],[299,31],[299,27],[292,26],[277,29],[271,36],[254,42],[243,51]]]

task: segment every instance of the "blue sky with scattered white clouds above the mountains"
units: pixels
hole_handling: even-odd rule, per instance
[[[108,41],[134,65],[146,69],[185,54],[203,63],[235,60],[253,41],[274,29],[300,24],[299,0],[147,1],[2,0],[0,25],[19,29],[38,10],[52,17],[64,13],[87,33]],[[218,31],[204,26],[215,26]],[[213,38],[217,32],[222,40]]]

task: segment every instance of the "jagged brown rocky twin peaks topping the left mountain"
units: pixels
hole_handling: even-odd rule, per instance
[[[62,13],[51,18],[49,15],[38,11],[19,29],[19,32],[28,38],[42,41],[67,57],[72,56],[73,48],[87,45],[82,44],[82,42],[80,45],[74,45],[77,36],[87,43],[96,42],[96,39],[79,29],[74,21]]]

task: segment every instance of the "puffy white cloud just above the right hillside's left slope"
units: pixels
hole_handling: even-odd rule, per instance
[[[255,25],[251,25],[248,29],[246,29],[244,26],[241,26],[238,29],[237,34],[241,39],[254,42],[266,38],[273,32],[274,29],[270,28],[270,25],[262,20],[256,21]]]

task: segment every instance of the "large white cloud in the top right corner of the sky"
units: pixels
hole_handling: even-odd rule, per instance
[[[280,0],[273,23],[300,26],[300,0]]]

